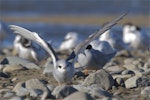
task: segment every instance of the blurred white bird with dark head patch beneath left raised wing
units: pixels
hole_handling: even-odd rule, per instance
[[[18,55],[21,58],[38,62],[44,58],[46,54],[44,50],[41,50],[38,46],[34,45],[31,40],[28,40],[21,35],[16,35],[13,43],[13,55]]]

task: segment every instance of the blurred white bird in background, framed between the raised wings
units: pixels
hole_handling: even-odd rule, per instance
[[[64,41],[61,43],[59,49],[60,50],[68,50],[68,49],[72,50],[77,46],[78,43],[80,43],[78,33],[69,32],[66,34]]]

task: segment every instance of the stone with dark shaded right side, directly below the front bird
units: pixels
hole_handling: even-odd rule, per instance
[[[72,86],[63,85],[63,86],[57,86],[53,90],[52,95],[54,95],[56,98],[61,99],[69,96],[70,94],[76,91],[77,89],[73,88]]]

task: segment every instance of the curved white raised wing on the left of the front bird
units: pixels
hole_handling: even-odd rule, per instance
[[[29,40],[32,40],[37,44],[39,44],[41,47],[43,47],[45,51],[47,51],[52,57],[54,66],[56,65],[56,61],[58,60],[58,57],[56,56],[54,49],[50,44],[44,41],[36,32],[31,32],[25,28],[16,25],[10,25],[9,27],[14,31],[14,33],[19,34]]]

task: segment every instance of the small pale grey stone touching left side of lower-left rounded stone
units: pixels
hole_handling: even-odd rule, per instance
[[[29,91],[25,88],[24,82],[17,83],[12,91],[16,92],[17,96],[26,96],[29,94]]]

